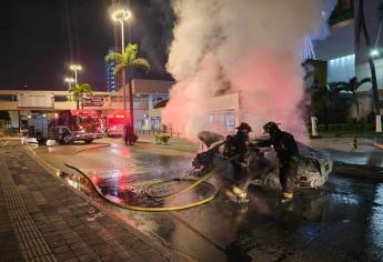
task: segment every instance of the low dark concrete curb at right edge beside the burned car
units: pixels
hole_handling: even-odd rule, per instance
[[[334,162],[334,171],[341,175],[347,175],[359,179],[369,179],[375,182],[383,182],[383,168],[379,167],[349,164],[336,161]]]

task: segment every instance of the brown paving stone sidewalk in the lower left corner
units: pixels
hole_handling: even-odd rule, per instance
[[[179,261],[79,196],[17,142],[0,144],[0,261]]]

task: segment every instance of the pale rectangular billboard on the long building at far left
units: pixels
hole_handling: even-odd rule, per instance
[[[52,92],[19,92],[18,109],[53,109]]]

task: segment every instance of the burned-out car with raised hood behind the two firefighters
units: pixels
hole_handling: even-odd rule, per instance
[[[209,135],[209,133],[211,135]],[[206,151],[198,153],[192,162],[194,175],[203,175],[212,170],[218,163],[226,158],[223,153],[225,141],[222,135],[203,131],[198,135],[208,148]],[[300,160],[295,188],[319,188],[323,185],[333,169],[333,162],[329,154],[316,151],[312,148],[298,143]],[[248,157],[248,181],[243,189],[250,184],[260,184],[271,188],[280,188],[279,160],[272,148],[259,148],[256,143],[250,143]],[[221,169],[220,175],[228,180],[234,180],[234,168],[228,163]]]

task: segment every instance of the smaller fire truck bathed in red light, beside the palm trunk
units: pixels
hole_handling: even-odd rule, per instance
[[[128,122],[128,113],[124,110],[110,110],[105,114],[105,133],[108,137],[122,137],[123,127]]]

